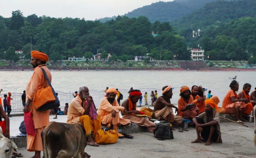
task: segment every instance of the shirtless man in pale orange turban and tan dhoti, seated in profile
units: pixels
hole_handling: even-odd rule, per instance
[[[171,98],[173,96],[172,86],[164,86],[162,88],[162,96],[158,97],[154,105],[154,117],[160,120],[167,120],[168,123],[176,121],[178,123],[182,122],[182,116],[174,116],[173,108],[175,108],[175,113],[178,112],[178,108],[171,104]]]

